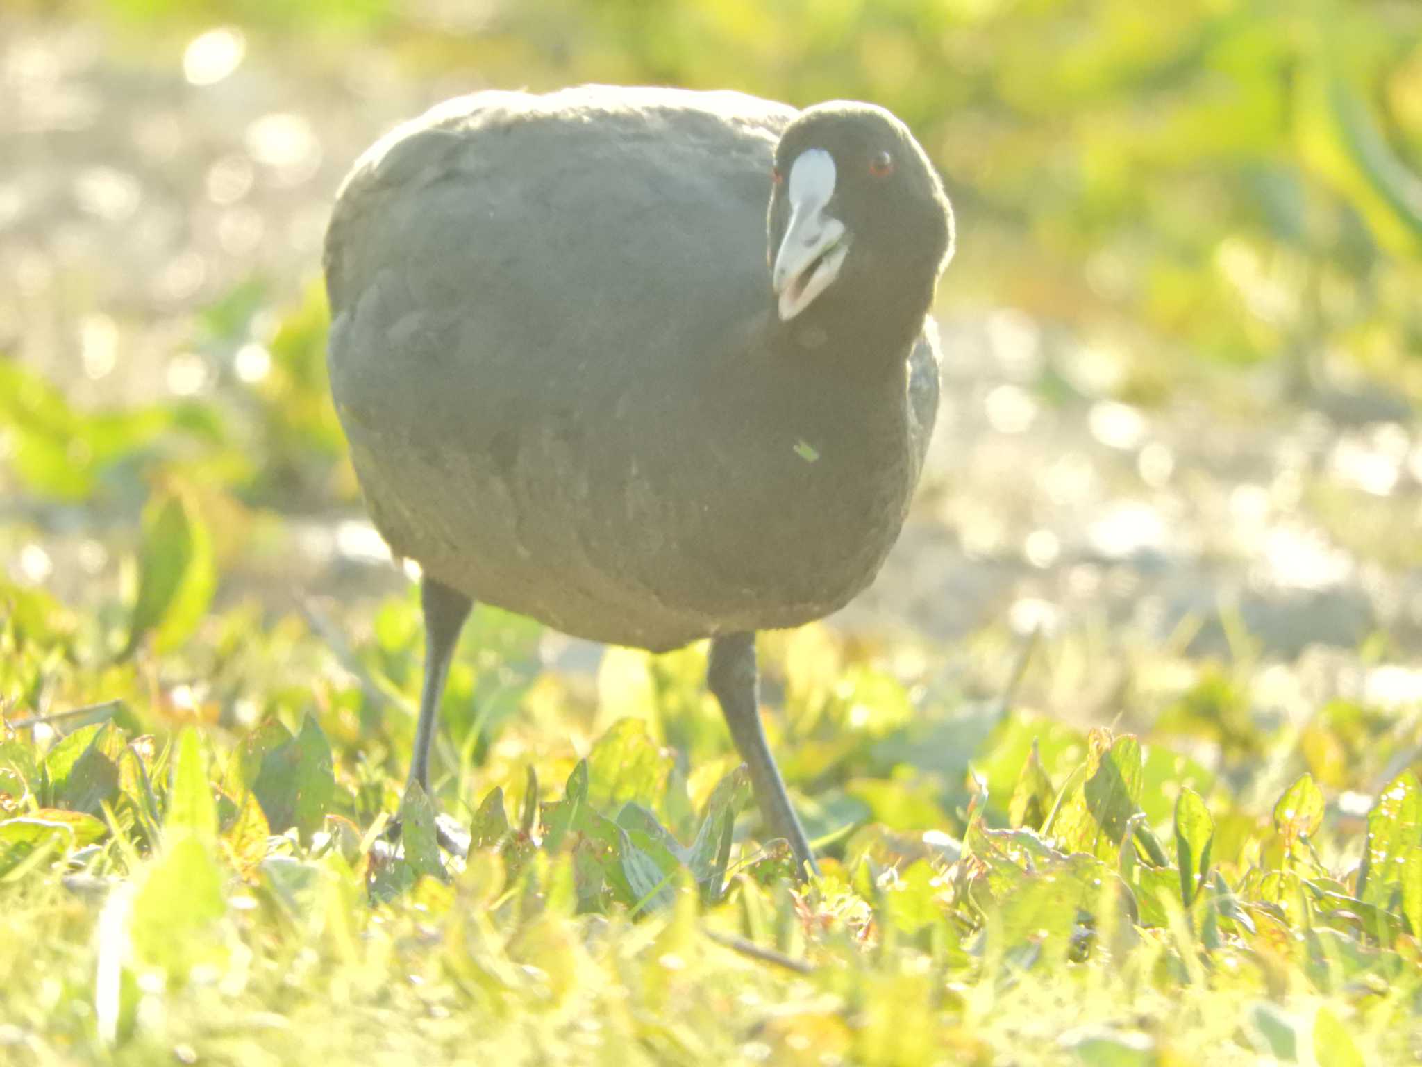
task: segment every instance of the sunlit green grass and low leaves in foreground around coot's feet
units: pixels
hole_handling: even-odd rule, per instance
[[[175,536],[155,511],[148,536]],[[412,598],[337,653],[247,606],[183,622],[188,582],[127,616],[4,590],[6,1063],[1331,1067],[1422,1047],[1415,713],[1271,718],[1250,663],[1158,652],[1132,663],[1150,727],[1112,736],[930,683],[921,650],[771,635],[774,743],[828,842],[796,891],[702,652],[614,650],[593,691],[479,609],[435,797],[476,846],[441,856],[414,798],[391,855]],[[1047,644],[1024,691],[1079,654]]]

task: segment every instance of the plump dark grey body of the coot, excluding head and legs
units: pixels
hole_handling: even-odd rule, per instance
[[[793,115],[732,92],[485,92],[363,156],[327,239],[331,387],[398,553],[654,649],[796,625],[873,576],[917,474],[906,381],[870,427],[882,482],[856,497],[832,442],[784,418],[775,391],[799,384],[758,383],[741,341],[768,306],[769,168]],[[842,400],[796,397],[852,438]],[[778,506],[782,545],[757,525]]]

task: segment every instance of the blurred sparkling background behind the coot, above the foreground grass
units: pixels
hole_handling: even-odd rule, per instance
[[[327,400],[330,202],[445,97],[580,81],[870,100],[941,169],[940,430],[835,627],[984,693],[1041,630],[1085,720],[1158,653],[1422,699],[1416,0],[6,0],[0,610],[414,647]]]

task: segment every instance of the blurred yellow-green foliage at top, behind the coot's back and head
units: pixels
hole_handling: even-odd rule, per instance
[[[85,7],[78,4],[78,7]],[[107,0],[344,70],[739,88],[902,115],[958,203],[957,303],[1148,363],[1338,349],[1422,393],[1422,7],[1347,0]],[[461,14],[461,11],[464,14]],[[263,46],[266,47],[266,44]],[[1149,376],[1149,370],[1142,371]],[[1149,393],[1149,386],[1143,386]]]

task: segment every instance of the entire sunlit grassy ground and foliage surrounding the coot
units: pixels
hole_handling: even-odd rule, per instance
[[[51,7],[0,26],[0,1064],[1422,1058],[1422,230],[1354,101],[1415,159],[1408,4],[1331,58],[1264,3]],[[913,522],[762,637],[803,889],[704,650],[488,609],[383,841],[422,637],[309,283],[361,147],[525,78],[882,100],[954,191]]]

